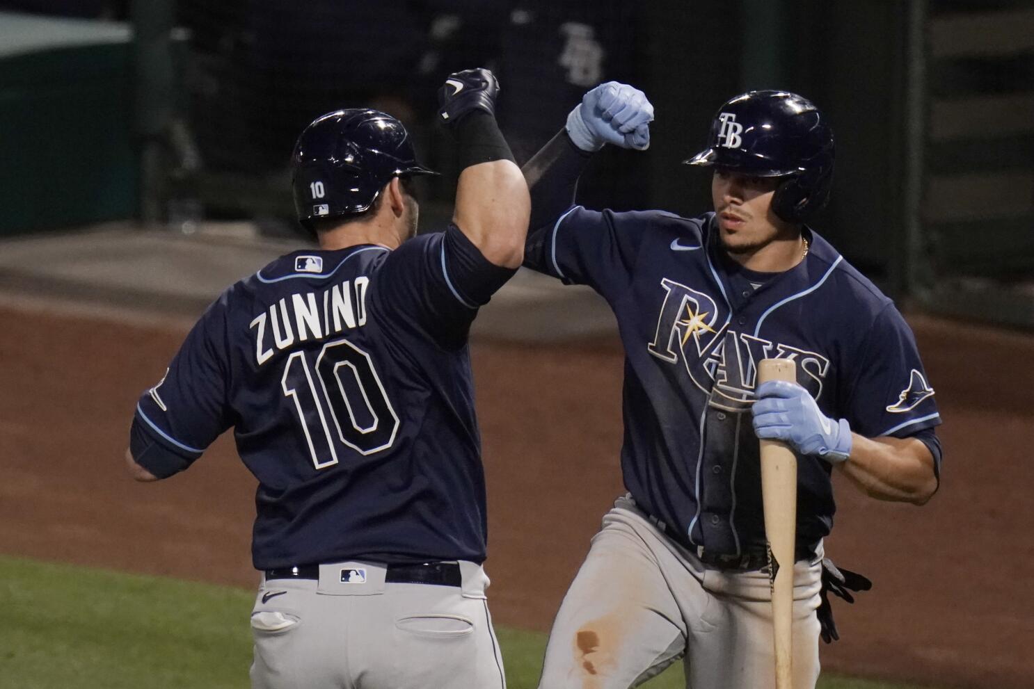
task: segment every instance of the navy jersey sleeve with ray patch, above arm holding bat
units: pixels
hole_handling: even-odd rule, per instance
[[[846,418],[869,438],[905,438],[940,425],[934,388],[919,359],[912,330],[893,304],[876,316],[860,349]]]

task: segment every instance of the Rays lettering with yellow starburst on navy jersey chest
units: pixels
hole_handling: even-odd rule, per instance
[[[664,304],[657,332],[647,350],[669,364],[681,359],[693,383],[711,397],[714,407],[739,410],[754,399],[757,365],[763,358],[792,358],[797,382],[816,400],[829,359],[751,333],[729,327],[731,315],[719,317],[719,306],[708,294],[664,278]]]

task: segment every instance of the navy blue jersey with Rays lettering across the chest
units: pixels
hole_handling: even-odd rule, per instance
[[[757,365],[792,358],[797,382],[863,436],[940,424],[912,332],[893,303],[821,237],[778,274],[743,271],[721,249],[713,214],[575,207],[525,264],[587,284],[610,304],[626,351],[621,468],[646,511],[714,553],[762,545]],[[830,465],[798,458],[797,534],[832,527]]]

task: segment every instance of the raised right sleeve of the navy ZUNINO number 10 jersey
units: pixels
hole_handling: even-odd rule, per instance
[[[392,251],[377,271],[374,299],[388,318],[407,319],[440,345],[457,347],[478,315],[515,269],[485,258],[454,224],[421,234]]]

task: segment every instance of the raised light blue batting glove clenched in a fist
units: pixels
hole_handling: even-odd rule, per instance
[[[568,135],[582,151],[599,151],[604,144],[645,151],[653,106],[646,94],[628,84],[607,82],[596,87],[568,115]]]

